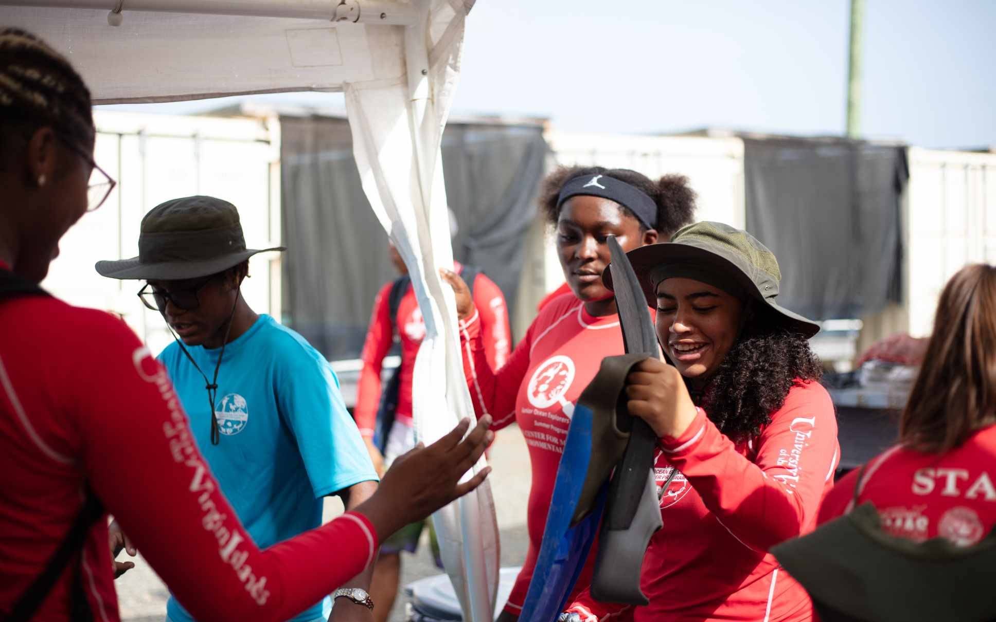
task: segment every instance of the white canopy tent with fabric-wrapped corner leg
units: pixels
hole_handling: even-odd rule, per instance
[[[439,143],[472,5],[0,0],[0,25],[31,31],[66,54],[97,104],[344,92],[364,189],[425,319],[413,402],[418,437],[430,443],[473,416],[453,295],[437,273],[453,261]],[[484,466],[482,459],[473,472]],[[463,619],[491,620],[499,543],[487,482],[432,519]]]

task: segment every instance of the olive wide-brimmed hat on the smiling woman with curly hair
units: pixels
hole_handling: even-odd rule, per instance
[[[779,307],[778,285],[782,273],[775,254],[742,229],[723,223],[699,222],[687,225],[670,242],[650,244],[626,253],[643,287],[646,304],[657,304],[657,284],[671,277],[685,277],[741,294],[774,311],[766,316],[790,332],[811,337],[820,331],[816,322]],[[613,288],[612,271],[602,280]]]

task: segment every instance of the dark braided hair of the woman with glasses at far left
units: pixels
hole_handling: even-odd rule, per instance
[[[17,28],[0,28],[0,151],[43,126],[87,151],[94,146],[90,90],[64,56]]]

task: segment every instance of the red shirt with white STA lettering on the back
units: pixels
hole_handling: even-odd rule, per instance
[[[940,535],[971,546],[996,524],[994,456],[996,425],[942,455],[893,447],[869,462],[858,503],[874,504],[882,527],[893,535],[916,541]],[[824,500],[821,523],[851,511],[859,471]]]

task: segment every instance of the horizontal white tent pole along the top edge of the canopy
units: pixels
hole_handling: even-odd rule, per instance
[[[118,4],[119,0],[0,0],[0,5],[108,11],[114,11]],[[384,26],[407,26],[418,19],[411,5],[390,0],[124,0],[123,4],[125,14],[129,11],[153,11],[324,19]]]

